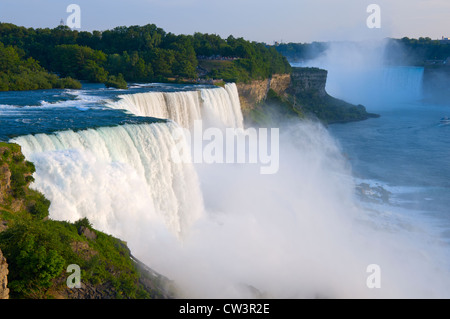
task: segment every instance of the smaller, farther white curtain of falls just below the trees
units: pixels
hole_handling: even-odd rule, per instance
[[[210,125],[243,128],[239,93],[234,83],[225,87],[186,92],[148,92],[124,94],[109,107],[124,109],[137,116],[170,119],[184,128],[195,120]]]

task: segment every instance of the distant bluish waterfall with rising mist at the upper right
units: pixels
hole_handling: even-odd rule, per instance
[[[387,42],[330,43],[324,54],[301,66],[328,71],[326,90],[339,99],[366,107],[422,98],[423,67],[390,66]]]

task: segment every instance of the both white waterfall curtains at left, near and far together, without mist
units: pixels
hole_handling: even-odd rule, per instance
[[[242,128],[236,85],[123,94],[108,106],[172,121],[12,140],[36,165],[33,186],[51,200],[50,217],[88,217],[95,227],[124,238],[130,233],[125,220],[133,228],[132,220],[136,225],[149,218],[181,238],[203,213],[203,198],[194,166],[181,159],[190,155],[190,148],[180,127],[203,120],[206,125]]]

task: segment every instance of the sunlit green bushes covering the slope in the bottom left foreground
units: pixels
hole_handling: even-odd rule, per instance
[[[61,289],[58,281],[65,289],[69,276],[65,270],[71,264],[80,266],[83,283],[108,284],[113,298],[150,297],[138,285],[139,273],[124,243],[97,231],[95,240],[87,239],[78,230],[78,222],[22,219],[0,233],[13,298],[51,297],[52,291]]]

